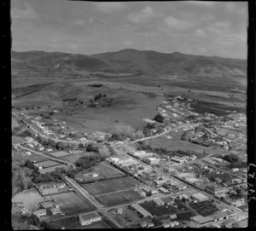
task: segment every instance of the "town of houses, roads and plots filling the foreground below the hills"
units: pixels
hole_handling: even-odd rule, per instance
[[[246,227],[246,115],[196,104],[168,95],[137,139],[74,130],[61,108],[15,108],[12,148],[32,181],[13,211],[62,229]]]

